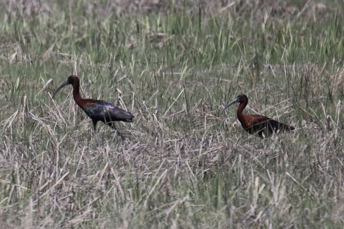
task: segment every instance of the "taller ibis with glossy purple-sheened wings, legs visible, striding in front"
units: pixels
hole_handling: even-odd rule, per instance
[[[73,97],[76,104],[79,105],[81,109],[86,113],[88,117],[92,119],[93,128],[96,130],[96,125],[98,121],[101,121],[111,128],[116,129],[116,121],[122,122],[132,122],[133,116],[130,112],[122,110],[111,103],[105,102],[103,100],[94,100],[94,99],[83,99],[80,96],[79,87],[80,81],[77,76],[70,76],[67,78],[67,81],[64,82],[53,94],[52,99],[55,94],[67,84],[73,85]],[[116,129],[117,130],[117,129]],[[117,132],[118,133],[118,132]],[[119,133],[118,133],[119,134]],[[119,134],[120,135],[120,134]],[[121,135],[120,135],[121,136]],[[122,137],[123,138],[123,137]]]

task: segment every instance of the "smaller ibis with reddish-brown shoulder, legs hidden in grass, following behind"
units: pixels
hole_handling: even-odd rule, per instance
[[[271,118],[262,115],[244,115],[243,111],[248,103],[248,98],[246,95],[238,95],[235,100],[228,103],[225,108],[223,108],[221,114],[226,110],[227,107],[233,105],[234,103],[239,103],[237,110],[237,117],[241,126],[249,134],[258,133],[259,137],[264,138],[278,132],[290,132],[295,128],[288,126],[283,123],[279,123]]]

